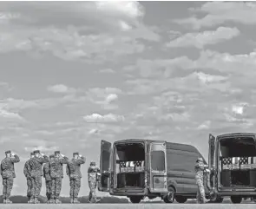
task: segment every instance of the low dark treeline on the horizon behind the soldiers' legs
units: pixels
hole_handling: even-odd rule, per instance
[[[97,198],[99,201],[98,203],[128,203],[128,199],[120,199],[120,198],[115,198],[115,197],[103,197],[103,198]],[[41,203],[46,203],[47,199],[46,197],[43,196],[39,196],[38,200]],[[62,201],[62,203],[70,203],[70,199],[67,197],[61,197],[60,200]],[[88,203],[89,202],[89,198],[88,196],[83,196],[81,198],[78,198],[78,200],[81,203]],[[12,203],[27,203],[28,202],[28,198],[21,196],[21,195],[17,195],[17,196],[12,196],[10,197],[10,201],[12,201]],[[0,196],[0,203],[3,203],[3,196]]]

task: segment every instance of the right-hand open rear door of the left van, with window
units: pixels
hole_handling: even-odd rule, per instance
[[[154,141],[149,147],[149,190],[167,193],[167,149],[165,141]]]

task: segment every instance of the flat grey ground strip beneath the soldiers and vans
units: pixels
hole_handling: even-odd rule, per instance
[[[42,205],[27,205],[27,204],[13,204],[13,205],[1,205],[0,208],[11,208],[11,209],[44,209],[44,208],[63,208],[63,209],[84,209],[84,208],[91,208],[91,209],[121,209],[124,208],[124,204],[80,204],[80,205],[69,205],[69,204],[62,204],[62,205],[47,205],[47,204],[42,204]],[[126,204],[126,208],[131,208],[131,209],[164,209],[164,208],[172,208],[172,209],[178,209],[178,208],[184,208],[184,209],[191,209],[191,208],[214,208],[214,209],[219,209],[222,207],[225,208],[252,208],[255,209],[254,204],[239,204],[239,205],[233,205],[233,204],[206,204],[206,205],[195,205],[195,204]]]

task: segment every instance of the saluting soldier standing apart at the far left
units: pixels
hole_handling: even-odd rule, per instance
[[[5,152],[6,157],[1,162],[0,173],[3,179],[3,203],[10,204],[10,192],[13,186],[13,179],[16,178],[14,163],[20,161],[15,153],[10,150]]]

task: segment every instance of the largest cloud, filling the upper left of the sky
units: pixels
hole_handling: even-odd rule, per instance
[[[19,14],[19,18],[9,18],[8,24],[1,25],[0,53],[50,53],[67,61],[102,63],[115,61],[117,56],[141,53],[145,49],[141,39],[160,40],[140,20],[144,12],[137,2],[0,5],[10,14]]]

